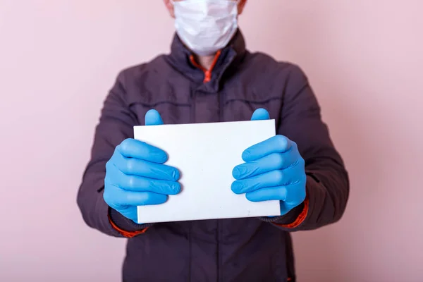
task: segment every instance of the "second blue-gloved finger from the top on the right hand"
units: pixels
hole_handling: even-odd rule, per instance
[[[297,159],[298,155],[295,150],[290,150],[283,154],[269,154],[262,159],[257,159],[257,161],[250,161],[245,164],[235,166],[235,168],[233,168],[232,175],[233,178],[238,180],[258,176],[259,174],[266,173],[268,171],[288,168],[295,164]]]

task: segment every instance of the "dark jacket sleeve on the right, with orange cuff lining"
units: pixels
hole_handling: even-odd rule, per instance
[[[349,178],[317,98],[298,66],[290,66],[277,134],[297,143],[307,174],[306,200],[285,216],[265,218],[284,231],[311,230],[341,219],[349,195]]]

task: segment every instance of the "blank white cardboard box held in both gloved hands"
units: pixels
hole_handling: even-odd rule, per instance
[[[243,151],[275,133],[275,121],[135,126],[135,139],[163,149],[182,190],[164,204],[137,207],[139,223],[277,216],[278,201],[250,202],[231,190]]]

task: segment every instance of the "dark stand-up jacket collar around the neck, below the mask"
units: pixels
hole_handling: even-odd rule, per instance
[[[247,53],[245,49],[245,40],[243,34],[238,29],[228,45],[221,49],[216,55],[214,67],[210,73],[209,81],[206,79],[205,70],[202,70],[195,61],[192,60],[192,51],[190,51],[178,35],[175,33],[171,44],[171,54],[166,56],[168,63],[176,68],[177,71],[185,75],[193,82],[204,85],[207,92],[216,92],[219,90],[219,82],[223,73],[230,71],[230,66],[238,66]]]

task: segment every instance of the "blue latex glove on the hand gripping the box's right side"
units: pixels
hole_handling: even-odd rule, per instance
[[[269,119],[265,109],[257,109],[252,120]],[[276,135],[243,152],[245,164],[233,168],[236,179],[231,189],[246,194],[252,202],[281,201],[281,215],[305,200],[305,161],[295,142]]]

